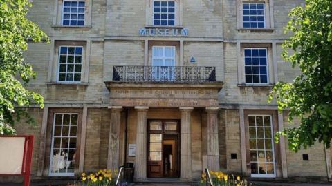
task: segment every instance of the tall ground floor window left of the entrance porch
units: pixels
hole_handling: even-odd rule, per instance
[[[54,114],[50,176],[74,176],[78,114]]]

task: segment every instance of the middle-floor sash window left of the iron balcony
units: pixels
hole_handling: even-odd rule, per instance
[[[58,81],[80,82],[82,71],[82,46],[59,46]]]

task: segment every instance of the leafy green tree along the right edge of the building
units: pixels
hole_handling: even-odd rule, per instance
[[[299,127],[279,135],[288,137],[288,147],[297,152],[315,142],[330,146],[332,138],[332,1],[306,0],[306,6],[291,10],[282,56],[299,67],[293,83],[279,82],[270,94],[279,110],[289,110],[289,120],[299,118]],[[289,52],[289,53],[288,53]],[[277,135],[277,139],[279,138]]]

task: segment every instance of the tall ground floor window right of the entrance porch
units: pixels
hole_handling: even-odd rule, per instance
[[[271,115],[248,115],[252,177],[275,177],[275,152]]]

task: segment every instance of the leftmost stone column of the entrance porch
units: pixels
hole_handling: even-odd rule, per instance
[[[111,123],[109,126],[109,154],[107,157],[107,169],[119,169],[120,148],[120,118],[122,107],[111,108]]]

